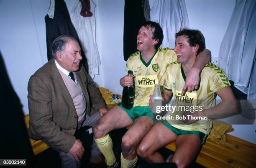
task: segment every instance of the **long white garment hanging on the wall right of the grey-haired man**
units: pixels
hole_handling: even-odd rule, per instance
[[[79,36],[81,47],[85,51],[88,61],[89,74],[92,78],[99,74],[100,56],[96,43],[96,19],[95,19],[95,3],[91,0],[92,17],[84,18],[80,15],[82,5],[79,0],[75,0],[71,10],[72,23]]]

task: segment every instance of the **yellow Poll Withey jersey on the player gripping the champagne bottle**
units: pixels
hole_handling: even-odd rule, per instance
[[[147,106],[149,96],[154,92],[155,84],[164,84],[166,67],[177,61],[177,55],[171,48],[161,48],[146,63],[141,57],[141,51],[133,53],[126,64],[126,71],[133,71],[135,85],[135,106]]]

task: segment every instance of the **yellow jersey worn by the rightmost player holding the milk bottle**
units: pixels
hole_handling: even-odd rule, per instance
[[[216,103],[216,93],[218,90],[223,89],[224,87],[231,86],[227,76],[223,73],[223,71],[216,66],[209,62],[205,65],[202,69],[200,74],[200,85],[197,91],[193,92],[186,92],[182,95],[182,89],[185,84],[186,76],[182,69],[181,64],[177,62],[173,62],[170,64],[166,69],[166,74],[164,76],[165,83],[164,88],[166,90],[172,90],[174,95],[174,103],[173,106],[179,105],[180,109],[187,106],[195,106],[201,107],[202,109],[208,109],[215,106]],[[205,134],[209,134],[212,128],[212,120],[198,120],[190,125],[184,124],[177,124],[182,123],[181,121],[177,121],[177,116],[182,115],[182,110],[175,110],[167,112],[167,115],[172,115],[174,118],[171,120],[167,120],[173,127],[177,127],[182,130],[193,130],[193,131],[200,131]]]

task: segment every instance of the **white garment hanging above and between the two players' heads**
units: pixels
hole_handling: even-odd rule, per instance
[[[174,48],[175,33],[189,27],[184,0],[156,0],[150,11],[151,21],[160,24],[164,39],[161,46]]]

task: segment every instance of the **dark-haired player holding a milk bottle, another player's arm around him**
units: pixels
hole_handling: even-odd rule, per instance
[[[227,77],[212,63],[202,69],[199,87],[193,92],[182,93],[198,53],[204,49],[205,38],[200,31],[183,29],[176,33],[174,51],[178,58],[166,69],[162,93],[166,101],[174,95],[175,110],[168,111],[165,119],[151,128],[137,149],[138,155],[150,163],[164,162],[157,150],[176,141],[176,151],[168,161],[176,163],[179,168],[187,167],[200,152],[211,130],[210,119],[234,114],[239,109]],[[215,106],[216,94],[223,102]],[[190,111],[183,111],[182,106]],[[149,107],[152,107],[152,97]]]

